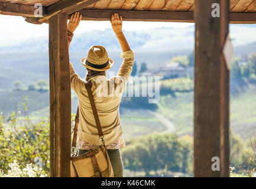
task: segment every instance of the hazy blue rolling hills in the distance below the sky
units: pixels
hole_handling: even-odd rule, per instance
[[[256,51],[255,24],[231,25],[230,30],[236,56]],[[147,63],[149,67],[164,64],[174,56],[188,55],[194,47],[193,26],[124,32],[131,48],[135,51],[135,61],[138,66],[142,62]],[[85,69],[81,66],[80,59],[85,57],[88,48],[95,44],[106,47],[109,57],[115,61],[111,71],[116,73],[122,62],[121,48],[111,29],[85,32],[74,37],[70,45],[70,61],[74,69],[80,76],[85,76]],[[31,38],[15,45],[0,43],[0,66],[0,89],[11,88],[14,80],[20,80],[24,87],[38,79],[48,80],[48,39]]]

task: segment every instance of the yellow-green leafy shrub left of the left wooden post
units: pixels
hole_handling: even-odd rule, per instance
[[[26,105],[27,102],[24,103],[25,110],[27,110]],[[48,118],[42,118],[37,124],[34,124],[28,117],[22,122],[19,121],[19,117],[19,114],[16,115],[15,112],[12,112],[7,122],[4,116],[0,115],[1,174],[12,174],[11,172],[14,170],[19,172],[17,167],[23,171],[24,169],[28,170],[31,164],[36,164],[35,159],[40,157],[41,170],[37,172],[37,175],[48,175],[50,168],[50,140],[48,138],[50,124]],[[9,167],[11,167],[11,172]]]

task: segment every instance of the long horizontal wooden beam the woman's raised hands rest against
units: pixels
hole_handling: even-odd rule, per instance
[[[134,11],[109,9],[82,9],[82,20],[108,21],[114,12],[122,15],[124,21],[195,22],[192,11]],[[256,24],[256,12],[231,12],[231,24]]]

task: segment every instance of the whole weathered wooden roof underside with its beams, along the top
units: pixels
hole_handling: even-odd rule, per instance
[[[4,4],[4,2],[6,3]],[[34,0],[4,0],[4,2],[0,3],[0,14],[34,17],[35,8],[33,5],[36,3]],[[12,2],[13,4],[7,2]],[[43,3],[43,5],[49,4],[50,6],[43,7],[43,14],[47,13],[43,18],[27,18],[26,21],[33,24],[41,24],[48,22],[48,19],[60,12],[72,14],[85,8],[88,9],[85,18],[83,18],[85,20],[108,20],[109,14],[106,11],[119,11],[127,16],[127,20],[130,21],[161,21],[163,19],[163,21],[194,22],[190,12],[195,9],[195,0],[47,0]],[[256,0],[231,0],[229,9],[232,12],[230,15],[231,24],[256,24]],[[91,10],[95,12],[90,12]],[[144,12],[124,12],[127,10]],[[160,12],[156,14],[148,11]],[[173,12],[177,12],[177,14]],[[88,17],[89,14],[90,18]],[[138,18],[130,14],[137,14]],[[188,18],[190,19],[187,20]]]

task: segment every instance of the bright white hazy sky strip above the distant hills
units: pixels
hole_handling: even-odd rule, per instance
[[[10,44],[14,41],[24,40],[33,37],[48,36],[48,24],[30,24],[25,22],[22,17],[0,15],[0,45]],[[188,27],[189,23],[177,23],[177,22],[132,22],[124,21],[124,30],[147,30],[150,28],[160,27],[174,27],[184,28]],[[110,21],[81,21],[79,27],[75,33],[82,33],[91,30],[105,30],[105,28],[111,28]]]

